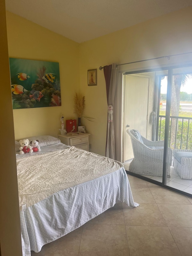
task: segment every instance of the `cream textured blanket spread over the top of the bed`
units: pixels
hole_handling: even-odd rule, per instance
[[[112,173],[123,165],[70,147],[17,159],[19,204],[29,207],[55,192]]]

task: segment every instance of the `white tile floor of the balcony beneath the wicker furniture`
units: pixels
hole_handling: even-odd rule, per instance
[[[125,163],[123,163],[125,166],[125,170],[129,170],[130,163],[131,163],[131,160],[125,161]],[[143,176],[162,182],[162,177],[159,177],[159,176],[149,176],[149,175],[143,175]],[[192,194],[192,179],[181,179],[181,177],[176,172],[174,167],[171,167],[170,176],[171,177],[167,177],[167,186],[170,186],[172,188],[177,188],[179,190]]]

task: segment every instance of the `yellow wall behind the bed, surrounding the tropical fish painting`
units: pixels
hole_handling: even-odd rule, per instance
[[[9,57],[59,62],[61,107],[13,110],[16,140],[59,134],[60,118],[76,118],[73,97],[79,91],[79,44],[7,12]]]

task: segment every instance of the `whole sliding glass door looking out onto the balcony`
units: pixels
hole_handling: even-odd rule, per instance
[[[129,116],[124,119],[125,148],[129,141],[127,145],[132,152],[126,155],[127,170],[129,174],[183,194],[192,194],[191,74],[192,66],[187,65],[125,73],[125,91],[132,99],[142,92],[145,83],[138,90],[130,82],[131,76],[148,77],[149,92],[147,96],[143,92],[143,100],[134,105],[134,111],[133,103],[126,102],[125,113],[132,113],[132,119]],[[142,114],[144,106],[147,106],[145,115]],[[145,121],[136,127],[143,118]],[[133,119],[137,122],[131,121]],[[134,134],[134,130],[143,137],[138,138],[140,135]]]

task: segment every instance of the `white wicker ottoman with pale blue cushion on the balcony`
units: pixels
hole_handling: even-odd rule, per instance
[[[192,150],[174,149],[173,167],[182,179],[192,179]]]

